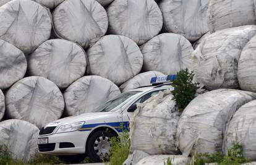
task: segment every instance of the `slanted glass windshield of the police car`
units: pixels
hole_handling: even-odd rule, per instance
[[[116,108],[120,104],[124,103],[127,99],[129,99],[131,96],[134,96],[137,93],[140,93],[141,91],[127,91],[125,93],[122,93],[121,95],[117,96],[116,98],[113,98],[106,102],[101,108],[98,109],[98,112],[109,112],[112,109]]]

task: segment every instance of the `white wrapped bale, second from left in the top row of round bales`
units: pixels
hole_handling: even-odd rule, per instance
[[[108,15],[95,0],[66,0],[54,9],[53,23],[61,38],[88,48],[105,35]]]

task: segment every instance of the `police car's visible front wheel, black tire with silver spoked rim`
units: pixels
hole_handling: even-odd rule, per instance
[[[109,130],[98,130],[87,140],[86,153],[94,162],[107,159],[111,149],[110,138],[115,135]]]

